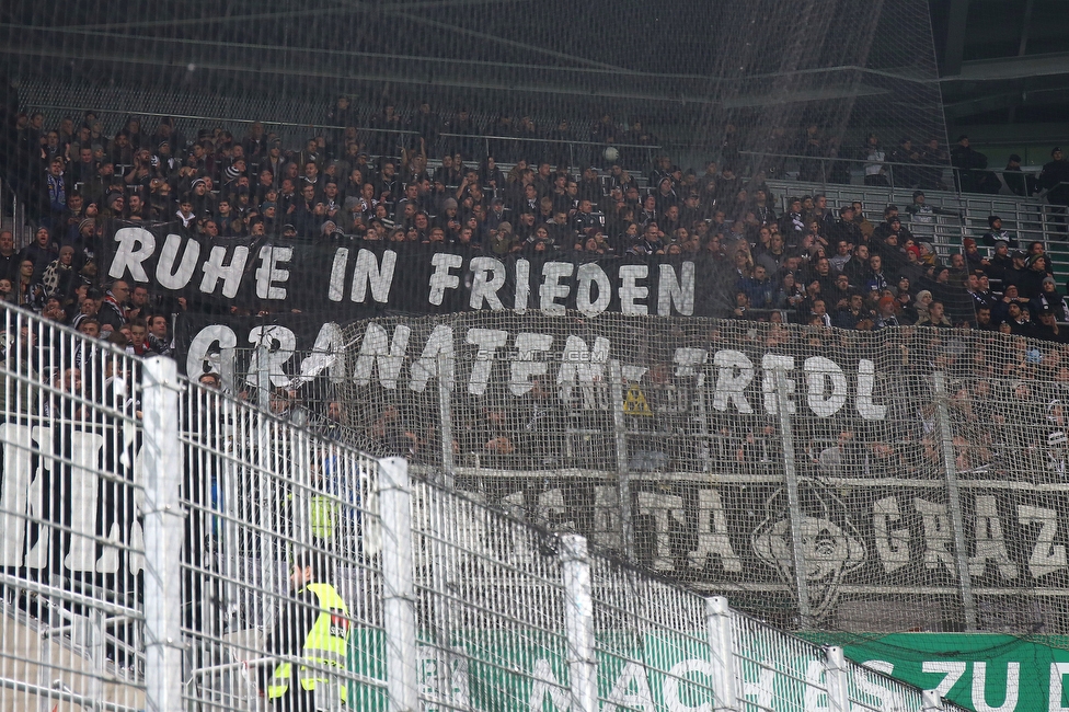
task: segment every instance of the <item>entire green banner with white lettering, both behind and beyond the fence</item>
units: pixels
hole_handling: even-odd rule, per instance
[[[1069,712],[1069,636],[965,633],[811,633],[866,665],[976,712]],[[386,677],[384,642],[355,631],[349,669]],[[755,709],[827,712],[823,654],[766,631],[736,639],[738,692]],[[566,652],[560,632],[479,631],[456,634],[448,647],[424,640],[416,661],[424,709],[564,712],[570,708]],[[708,650],[694,638],[618,632],[598,636],[602,712],[709,712],[715,709]],[[919,712],[919,694],[874,674],[851,675],[854,709]],[[916,697],[915,697],[916,694]],[[384,711],[380,685],[353,684],[350,705]],[[864,704],[865,708],[860,707]]]

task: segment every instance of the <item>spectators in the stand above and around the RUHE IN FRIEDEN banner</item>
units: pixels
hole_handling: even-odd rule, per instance
[[[330,123],[347,126],[347,112],[340,101]],[[206,241],[405,243],[502,259],[677,255],[720,276],[722,294],[710,302],[728,318],[859,330],[972,325],[1069,338],[1057,325],[1069,322],[1069,308],[1042,242],[1018,244],[990,216],[987,233],[940,255],[910,229],[943,211],[922,190],[905,209],[880,206],[875,215],[860,203],[831,206],[821,195],[792,196],[781,215],[763,171],[739,174],[732,127],[720,161],[701,174],[658,154],[645,181],[624,165],[642,163],[641,147],[654,147],[655,137],[641,124],[622,131],[609,115],[595,123],[590,146],[624,148],[595,153],[576,172],[566,123],[549,136],[558,140],[541,143],[521,140],[536,135],[529,118],[495,126],[515,140],[497,141],[499,152],[478,162],[482,127],[464,111],[444,124],[424,104],[403,123],[388,106],[375,128],[284,146],[260,123],[242,137],[221,128],[184,137],[170,118],[148,127],[130,117],[108,136],[92,113],[51,129],[39,113],[20,114],[2,168],[39,228],[21,251],[10,232],[0,234],[0,296],[87,333],[125,338],[134,353],[165,351],[166,315],[191,305],[151,285],[103,282],[103,229],[119,219],[180,222]],[[815,126],[803,134],[806,145],[821,145]],[[509,168],[498,164],[502,157]],[[1069,162],[1057,149],[1054,159],[1041,180],[1065,177]],[[935,179],[920,169],[909,175],[918,186]]]

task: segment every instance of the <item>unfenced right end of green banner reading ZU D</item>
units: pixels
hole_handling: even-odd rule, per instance
[[[808,634],[855,663],[976,712],[1069,712],[1069,636]]]

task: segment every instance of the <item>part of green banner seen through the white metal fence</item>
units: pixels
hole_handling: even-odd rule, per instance
[[[751,632],[738,636],[735,651],[737,691],[746,709],[828,712],[820,650],[775,631]],[[468,629],[455,631],[448,647],[421,638],[415,664],[425,712],[565,712],[571,707],[561,632]],[[350,671],[383,680],[381,635],[355,631],[350,642]],[[604,632],[597,648],[601,712],[710,712],[719,707],[709,650],[700,636]],[[852,680],[859,710],[920,711],[919,694],[875,674]],[[354,682],[348,697],[355,709],[387,709],[381,684]]]

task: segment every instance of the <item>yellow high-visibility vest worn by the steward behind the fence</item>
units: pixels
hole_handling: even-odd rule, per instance
[[[349,632],[349,609],[342,600],[337,589],[330,584],[309,584],[307,590],[315,594],[319,599],[320,613],[312,630],[308,631],[304,638],[304,645],[301,655],[304,659],[315,663],[322,667],[336,667],[340,670],[346,669],[346,656],[348,652]],[[303,593],[303,592],[301,592]],[[289,678],[292,667],[289,663],[279,663],[275,667],[271,685],[267,686],[267,697],[269,699],[281,697],[289,689]],[[310,669],[301,665],[297,671],[301,688],[311,692],[318,684],[329,684],[326,673]],[[344,704],[348,698],[348,690],[344,684],[338,686],[338,693]]]

